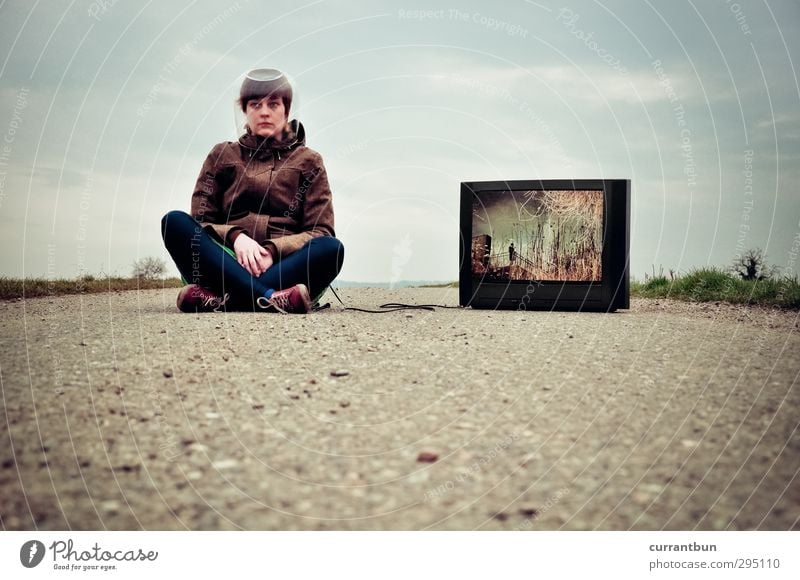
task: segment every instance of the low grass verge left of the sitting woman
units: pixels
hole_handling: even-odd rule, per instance
[[[180,278],[153,280],[147,278],[120,278],[83,276],[66,278],[6,278],[0,277],[0,300],[36,298],[41,296],[63,296],[66,294],[97,294],[122,290],[155,290],[180,288]]]

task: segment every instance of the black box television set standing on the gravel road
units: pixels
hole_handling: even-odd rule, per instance
[[[461,184],[459,304],[629,308],[629,179]]]

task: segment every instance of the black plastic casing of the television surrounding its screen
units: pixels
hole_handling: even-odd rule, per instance
[[[472,277],[473,200],[481,192],[603,191],[603,249],[600,281],[480,281]],[[461,183],[459,304],[514,310],[630,308],[630,179],[530,179]]]

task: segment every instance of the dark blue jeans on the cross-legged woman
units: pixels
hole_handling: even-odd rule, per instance
[[[229,310],[254,310],[257,298],[270,297],[274,290],[295,284],[305,284],[313,299],[338,276],[344,260],[342,243],[322,236],[309,240],[256,278],[186,212],[167,213],[161,219],[161,236],[184,279],[219,296],[230,294]]]

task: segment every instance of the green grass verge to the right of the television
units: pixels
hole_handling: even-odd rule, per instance
[[[742,280],[719,268],[699,268],[683,276],[648,278],[631,282],[631,295],[640,298],[673,298],[689,302],[730,302],[780,308],[800,308],[797,278]]]

